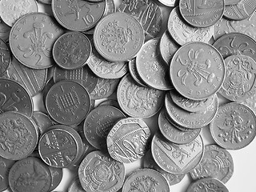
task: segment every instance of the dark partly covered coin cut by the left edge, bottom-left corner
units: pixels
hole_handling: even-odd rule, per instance
[[[9,187],[8,175],[10,168],[14,165],[14,160],[2,158],[0,156],[0,191],[4,191]]]

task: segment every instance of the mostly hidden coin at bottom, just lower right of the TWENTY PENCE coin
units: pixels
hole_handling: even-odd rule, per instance
[[[182,179],[185,177],[185,174],[170,174],[166,172],[165,170],[162,170],[156,162],[154,162],[154,158],[152,156],[151,150],[148,150],[144,156],[143,161],[144,168],[150,168],[157,170],[164,178],[166,178],[166,181],[168,182],[169,186],[173,186],[177,184],[178,182],[181,182]]]

